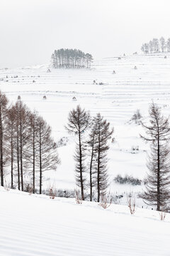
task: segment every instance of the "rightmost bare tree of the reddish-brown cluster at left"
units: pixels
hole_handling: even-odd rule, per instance
[[[37,119],[37,142],[38,142],[38,159],[39,159],[39,186],[40,194],[42,193],[42,173],[57,169],[60,159],[57,154],[55,142],[51,137],[51,128],[42,117]]]

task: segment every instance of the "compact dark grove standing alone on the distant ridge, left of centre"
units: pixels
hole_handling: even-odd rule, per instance
[[[53,68],[91,68],[93,57],[77,49],[60,49],[52,53]]]

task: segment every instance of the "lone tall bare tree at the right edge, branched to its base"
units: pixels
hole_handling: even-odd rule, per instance
[[[150,142],[151,153],[148,156],[146,191],[140,196],[145,203],[157,206],[157,210],[167,208],[170,198],[170,161],[169,161],[169,120],[164,118],[160,108],[152,103],[149,106],[149,124],[143,124],[146,136],[140,135],[145,142]]]

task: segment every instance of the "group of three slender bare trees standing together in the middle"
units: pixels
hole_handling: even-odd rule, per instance
[[[90,201],[93,198],[93,190],[96,189],[99,202],[108,188],[108,139],[111,139],[113,129],[110,129],[110,124],[100,113],[96,114],[96,117],[91,117],[89,112],[81,109],[79,105],[69,112],[66,129],[77,136],[74,160],[76,161],[76,182],[81,189],[81,199],[84,200],[84,190],[89,185]],[[87,159],[86,156],[89,158]],[[87,173],[89,173],[89,179],[87,179]]]

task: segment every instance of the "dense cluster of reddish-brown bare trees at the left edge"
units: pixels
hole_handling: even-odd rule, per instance
[[[10,169],[11,188],[24,191],[29,186],[35,193],[39,187],[42,193],[43,172],[57,169],[59,163],[47,122],[21,100],[8,105],[6,95],[0,92],[1,186]]]

